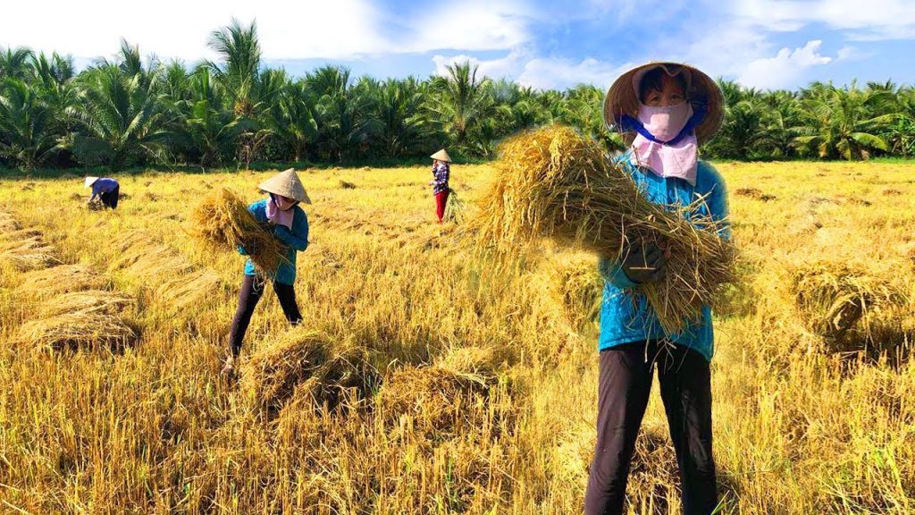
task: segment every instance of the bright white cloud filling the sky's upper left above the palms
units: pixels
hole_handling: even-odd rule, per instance
[[[370,0],[223,0],[215,5],[158,0],[153,7],[132,5],[114,0],[13,2],[4,5],[0,18],[0,45],[96,57],[115,53],[123,37],[145,55],[198,60],[214,57],[207,48],[210,32],[236,17],[245,24],[256,18],[267,59],[340,58],[386,46],[380,15]],[[41,14],[47,12],[53,16]]]

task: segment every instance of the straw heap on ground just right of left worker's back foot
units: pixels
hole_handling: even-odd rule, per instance
[[[279,411],[303,389],[320,407],[336,406],[371,385],[367,351],[320,331],[296,329],[255,352],[242,366],[242,389],[258,406]]]

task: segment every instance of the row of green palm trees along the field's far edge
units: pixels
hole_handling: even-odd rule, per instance
[[[0,166],[7,168],[344,162],[494,157],[498,142],[562,123],[608,150],[604,90],[538,91],[479,75],[380,81],[324,66],[304,77],[264,66],[256,26],[213,31],[216,61],[143,60],[122,41],[77,73],[58,53],[0,49]],[[915,88],[893,82],[759,91],[719,80],[725,120],[703,155],[727,159],[915,157]]]

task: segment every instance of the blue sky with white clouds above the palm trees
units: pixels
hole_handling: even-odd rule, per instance
[[[271,67],[427,77],[471,60],[534,88],[606,87],[646,60],[685,61],[749,87],[915,83],[915,0],[116,0],[4,5],[0,47],[111,56],[120,38],[188,65],[210,32],[256,20]]]

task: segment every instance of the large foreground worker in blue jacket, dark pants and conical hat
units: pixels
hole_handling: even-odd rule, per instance
[[[604,121],[630,141],[619,158],[653,203],[689,205],[727,228],[721,175],[698,160],[722,119],[716,82],[695,68],[649,63],[622,74],[604,100]],[[707,218],[706,218],[707,219]],[[597,446],[585,496],[587,515],[623,513],[623,499],[654,368],[683,483],[684,513],[717,505],[712,457],[714,350],[711,308],[680,334],[664,334],[645,296],[632,287],[664,277],[663,242],[633,242],[621,260],[600,262],[605,285],[600,313]]]

